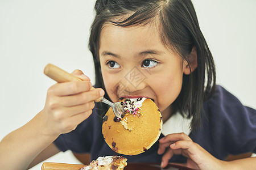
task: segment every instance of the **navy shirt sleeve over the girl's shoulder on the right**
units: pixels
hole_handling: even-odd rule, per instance
[[[214,148],[217,158],[229,154],[255,152],[256,111],[246,107],[224,87],[217,86],[212,97],[204,103],[202,124],[197,134],[202,134],[201,145]]]

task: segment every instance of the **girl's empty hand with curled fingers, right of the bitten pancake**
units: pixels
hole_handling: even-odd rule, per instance
[[[166,150],[167,148],[167,150]],[[187,167],[193,169],[222,169],[223,162],[214,158],[185,133],[169,134],[159,140],[158,154],[163,154],[161,167],[166,167],[173,155],[188,158]]]

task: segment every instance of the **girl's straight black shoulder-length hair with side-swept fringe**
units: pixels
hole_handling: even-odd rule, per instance
[[[191,0],[97,0],[94,9],[96,16],[91,27],[89,49],[94,59],[95,87],[105,90],[98,55],[100,33],[105,23],[120,27],[140,26],[158,18],[163,44],[179,54],[183,61],[189,63],[188,54],[193,46],[196,47],[198,66],[191,74],[183,75],[181,92],[172,104],[175,111],[192,117],[191,129],[195,129],[201,121],[203,102],[215,89],[216,71]],[[126,18],[117,22],[117,18],[123,16]]]

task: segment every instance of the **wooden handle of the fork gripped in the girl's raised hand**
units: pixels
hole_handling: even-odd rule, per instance
[[[63,69],[60,69],[60,67],[52,65],[51,63],[49,63],[46,67],[44,67],[44,74],[47,75],[49,78],[55,80],[58,83],[82,81],[77,76],[72,75]],[[93,90],[93,89],[94,89],[94,87],[92,87],[90,90]],[[98,99],[96,99],[94,101],[100,102],[101,99],[102,99],[102,97],[99,97]]]

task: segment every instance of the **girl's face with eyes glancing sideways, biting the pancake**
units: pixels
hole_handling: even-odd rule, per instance
[[[179,95],[188,69],[186,62],[162,44],[154,24],[105,24],[99,55],[106,92],[113,102],[123,97],[147,97],[162,114]]]

